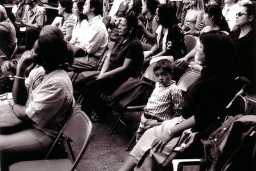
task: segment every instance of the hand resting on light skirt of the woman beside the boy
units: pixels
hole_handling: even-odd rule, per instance
[[[161,152],[164,146],[168,142],[170,142],[170,140],[172,140],[172,137],[169,135],[168,131],[165,131],[164,133],[159,135],[158,138],[156,138],[156,140],[154,140],[154,142],[151,145],[151,149],[154,149],[154,151],[159,150],[159,152]]]

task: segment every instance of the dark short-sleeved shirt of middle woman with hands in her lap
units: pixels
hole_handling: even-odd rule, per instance
[[[111,64],[109,65],[109,70],[115,70],[122,66],[125,58],[132,59],[132,70],[127,71],[128,73],[123,75],[123,77],[136,77],[144,59],[142,45],[137,37],[130,38],[125,43],[123,41],[124,38],[120,37],[113,45],[110,54]]]

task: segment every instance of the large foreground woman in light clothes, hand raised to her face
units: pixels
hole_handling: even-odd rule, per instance
[[[13,162],[44,158],[73,109],[73,89],[65,69],[74,58],[67,42],[52,34],[36,40],[31,54],[23,56],[13,84],[14,114],[24,127],[0,135],[1,168]],[[32,63],[39,67],[25,71]]]

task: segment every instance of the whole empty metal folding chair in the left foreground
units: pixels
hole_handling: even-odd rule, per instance
[[[67,123],[60,131],[60,134],[56,138],[54,144],[49,150],[45,160],[35,160],[35,161],[20,161],[19,163],[14,163],[9,167],[10,171],[14,170],[75,170],[77,164],[83,157],[86,148],[88,147],[90,138],[92,137],[92,122],[89,117],[81,110],[75,112],[70,116]],[[65,140],[67,143],[68,149],[72,156],[72,161],[69,159],[54,159],[47,160],[49,154],[51,154],[52,149],[60,142],[60,139]],[[70,142],[74,142],[79,154],[75,156]]]

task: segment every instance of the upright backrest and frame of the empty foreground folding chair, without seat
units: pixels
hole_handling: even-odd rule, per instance
[[[72,155],[72,158],[74,160],[73,167],[71,170],[74,170],[77,167],[77,164],[79,163],[81,158],[83,157],[83,154],[86,151],[86,148],[88,147],[91,137],[92,121],[90,121],[90,118],[83,111],[78,110],[70,116],[65,126],[63,126],[63,129],[60,131],[60,134],[56,138],[56,141],[52,145],[46,158],[49,156],[54,145],[58,144],[60,138],[66,139],[65,142],[67,142],[68,149],[70,150],[70,154]],[[70,141],[76,144],[77,150],[79,151],[77,157],[74,156],[74,152],[72,151]]]

